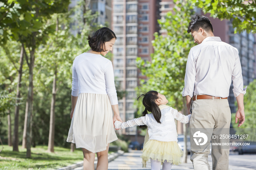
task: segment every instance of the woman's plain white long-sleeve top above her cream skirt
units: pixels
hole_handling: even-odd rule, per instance
[[[72,96],[79,93],[108,94],[118,104],[112,62],[99,54],[78,55],[72,67]]]

